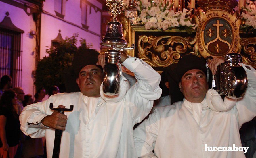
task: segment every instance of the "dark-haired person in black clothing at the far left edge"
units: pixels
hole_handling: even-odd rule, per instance
[[[0,99],[1,158],[13,158],[20,142],[20,122],[14,109],[15,104],[17,104],[16,93],[12,90],[5,90]]]

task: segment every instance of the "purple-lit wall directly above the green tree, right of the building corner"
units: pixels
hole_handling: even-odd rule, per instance
[[[102,4],[96,0],[89,1],[93,5],[102,9]],[[89,3],[87,9],[87,26],[88,31],[79,28],[81,24],[81,8],[80,0],[68,0],[65,5],[65,16],[62,19],[55,17],[54,12],[54,0],[45,0],[43,3],[43,10],[41,20],[41,48],[40,58],[43,58],[47,54],[45,53],[46,46],[51,45],[51,40],[56,38],[58,30],[61,30],[62,38],[65,36],[72,36],[74,33],[79,33],[79,38],[85,38],[87,43],[93,44],[93,49],[100,50],[100,29],[101,29],[101,12],[95,11],[91,8],[91,14],[89,14]],[[47,12],[47,13],[46,13]],[[49,14],[51,15],[49,15]],[[72,23],[72,24],[70,24]],[[79,46],[78,42],[78,46]]]

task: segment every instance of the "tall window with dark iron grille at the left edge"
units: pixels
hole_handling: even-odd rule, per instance
[[[13,87],[21,86],[22,34],[1,28],[0,31],[0,77],[10,75]]]

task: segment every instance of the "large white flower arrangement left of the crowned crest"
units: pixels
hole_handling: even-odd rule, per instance
[[[124,0],[124,4],[127,4]],[[138,22],[145,26],[145,29],[171,30],[174,27],[185,29],[188,33],[192,33],[191,29],[196,29],[197,25],[190,21],[190,13],[183,11],[175,12],[171,10],[173,4],[165,0],[136,0],[137,9],[139,12]],[[128,3],[129,4],[129,3]],[[126,9],[127,5],[124,5]]]

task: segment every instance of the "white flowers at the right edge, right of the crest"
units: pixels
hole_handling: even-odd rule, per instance
[[[253,32],[256,33],[256,1],[246,1],[245,7],[242,9],[246,11],[246,13],[242,13],[241,16],[245,19],[244,26],[241,27],[242,30],[247,31],[248,29],[254,29]]]

